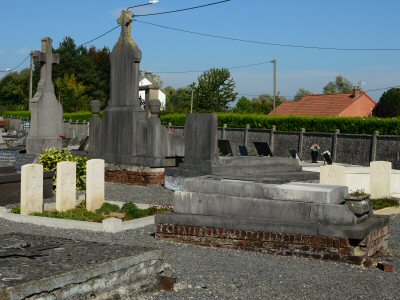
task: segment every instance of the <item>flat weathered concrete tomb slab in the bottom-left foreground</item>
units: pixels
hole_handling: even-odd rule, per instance
[[[158,285],[161,251],[13,233],[1,235],[1,299],[126,299]],[[121,289],[120,289],[121,291]]]

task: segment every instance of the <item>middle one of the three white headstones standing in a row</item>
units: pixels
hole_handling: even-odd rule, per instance
[[[66,211],[75,207],[76,163],[63,161],[57,164],[56,210]]]

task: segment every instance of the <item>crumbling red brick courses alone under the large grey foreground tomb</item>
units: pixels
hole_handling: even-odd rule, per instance
[[[202,246],[242,249],[278,255],[296,255],[361,265],[387,249],[390,228],[385,225],[362,240],[339,237],[280,234],[188,225],[157,224],[157,238]]]

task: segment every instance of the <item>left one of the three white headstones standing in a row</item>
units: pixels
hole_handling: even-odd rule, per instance
[[[21,215],[43,211],[43,165],[21,168]]]

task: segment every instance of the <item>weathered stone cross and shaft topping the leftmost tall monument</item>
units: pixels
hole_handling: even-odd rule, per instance
[[[37,88],[37,93],[32,99],[32,102],[37,102],[40,94],[45,92],[54,92],[54,84],[52,81],[53,64],[60,62],[60,56],[53,53],[53,40],[49,37],[42,39],[42,50],[33,52],[33,62],[40,63],[40,81]]]

